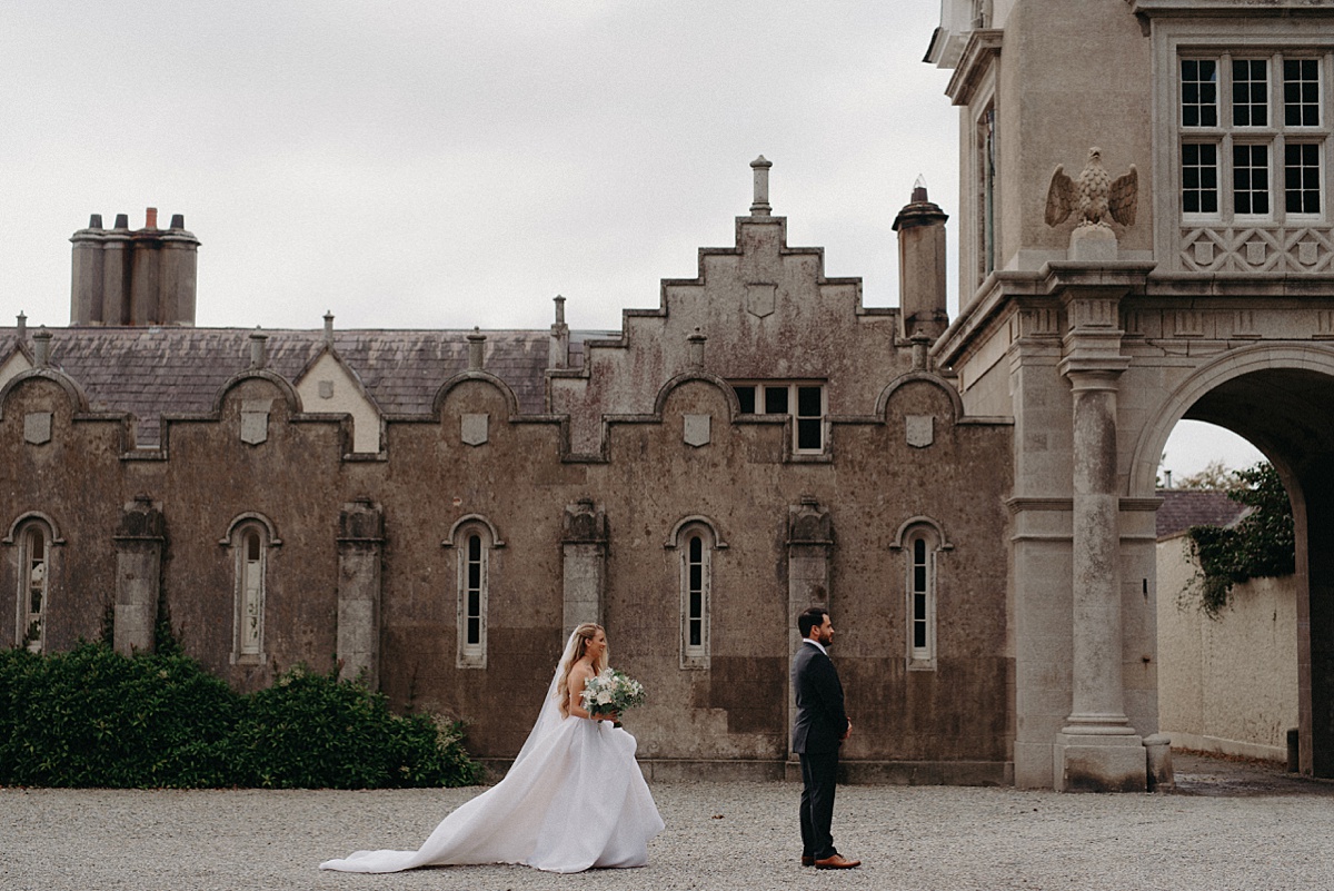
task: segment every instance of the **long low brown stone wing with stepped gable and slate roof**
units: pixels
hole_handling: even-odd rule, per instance
[[[240,688],[336,660],[503,762],[570,627],[600,620],[651,692],[651,771],[782,776],[795,616],[824,603],[852,778],[1010,782],[1013,425],[967,416],[926,356],[946,215],[924,191],[904,209],[906,331],[786,244],[755,169],[736,244],[620,332],[570,332],[560,301],[550,332],[0,331],[15,642],[45,531],[28,643],[109,611],[143,650],[165,610]]]

